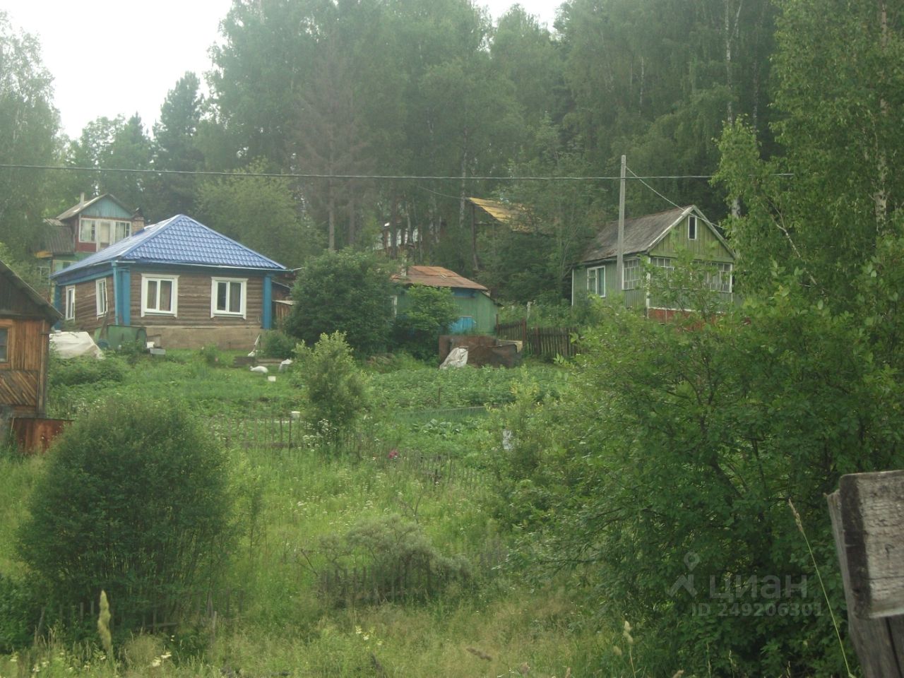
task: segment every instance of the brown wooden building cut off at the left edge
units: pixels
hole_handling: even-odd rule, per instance
[[[40,419],[51,327],[60,313],[0,261],[0,440],[12,419]]]

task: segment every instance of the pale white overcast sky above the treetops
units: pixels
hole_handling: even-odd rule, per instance
[[[477,0],[494,19],[514,0]],[[561,0],[521,0],[552,25]],[[185,71],[203,80],[231,0],[4,0],[14,31],[36,35],[53,75],[63,131],[78,137],[90,120],[141,116],[146,130]]]

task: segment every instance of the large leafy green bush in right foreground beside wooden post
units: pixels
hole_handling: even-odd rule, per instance
[[[575,360],[572,388],[544,403],[528,389],[507,410],[499,519],[519,527],[525,553],[580,568],[592,590],[643,620],[657,639],[643,650],[647,665],[677,657],[688,671],[709,663],[751,675],[843,667],[786,498],[824,574],[836,571],[824,494],[845,473],[904,463],[894,442],[904,418],[888,409],[900,387],[850,316],[794,289],[743,313],[669,325],[608,307]],[[711,598],[705,583],[669,593],[688,562],[696,581],[715,578],[717,593],[736,576],[758,578],[759,593]],[[770,577],[783,587],[807,578],[807,587],[769,597]],[[829,587],[838,606],[839,580]],[[701,603],[711,614],[694,614]],[[750,615],[730,614],[733,603]],[[757,623],[754,606],[781,603],[797,613]],[[692,649],[704,644],[709,657]]]

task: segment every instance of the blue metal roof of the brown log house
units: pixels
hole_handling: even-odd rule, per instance
[[[73,272],[111,261],[287,270],[282,264],[204,226],[200,221],[176,214],[82,259],[54,274],[53,278],[71,278],[74,277],[71,276]]]

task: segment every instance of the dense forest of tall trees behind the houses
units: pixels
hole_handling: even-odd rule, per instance
[[[418,263],[557,298],[617,184],[518,178],[612,177],[625,154],[636,174],[686,177],[632,182],[629,214],[693,202],[720,219],[725,192],[699,177],[723,125],[746,119],[774,147],[776,15],[769,0],[570,0],[547,27],[519,5],[493,23],[467,0],[237,0],[210,71],[174,83],[152,129],[101,117],[74,139],[40,47],[3,21],[5,162],[93,171],[6,170],[0,240],[26,250],[42,216],[108,192],[291,266],[395,224]],[[472,226],[467,196],[529,205],[531,234]]]

